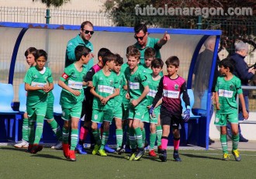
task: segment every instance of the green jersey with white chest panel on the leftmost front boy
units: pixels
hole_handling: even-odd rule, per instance
[[[43,67],[43,71],[38,71],[36,67],[30,67],[23,80],[32,87],[43,87],[47,83],[53,83],[50,68]],[[28,91],[26,105],[33,106],[47,100],[48,93],[43,90]]]

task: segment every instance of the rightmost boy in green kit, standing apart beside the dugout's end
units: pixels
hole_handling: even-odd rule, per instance
[[[237,150],[239,142],[238,118],[237,118],[237,94],[243,110],[244,119],[248,118],[245,108],[244,95],[241,89],[240,79],[234,76],[234,66],[231,60],[223,59],[220,61],[220,74],[216,82],[216,119],[214,124],[220,126],[220,142],[223,150],[223,160],[230,160],[227,151],[227,122],[231,123],[232,130],[232,154],[236,161],[240,161],[240,153]]]

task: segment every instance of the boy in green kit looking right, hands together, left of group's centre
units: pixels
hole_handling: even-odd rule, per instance
[[[91,93],[94,95],[92,105],[92,133],[95,137],[95,148],[92,154],[99,152],[100,156],[106,157],[104,147],[109,139],[109,126],[112,122],[112,111],[115,108],[114,97],[119,95],[119,81],[116,73],[112,72],[115,67],[116,56],[109,52],[102,57],[103,68],[92,78]],[[98,124],[103,122],[102,139],[98,130]]]

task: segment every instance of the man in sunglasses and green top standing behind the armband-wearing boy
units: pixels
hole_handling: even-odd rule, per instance
[[[93,45],[91,42],[89,42],[93,33],[94,31],[92,22],[85,21],[81,23],[80,34],[69,40],[67,43],[65,67],[73,64],[73,62],[75,61],[74,49],[76,46],[86,46],[93,53]],[[89,71],[90,68],[93,66],[92,57],[93,54],[88,64],[85,65],[87,71]]]

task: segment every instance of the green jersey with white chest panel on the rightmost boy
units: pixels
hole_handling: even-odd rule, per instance
[[[237,111],[237,94],[242,94],[241,81],[233,76],[230,81],[218,77],[215,91],[219,95],[220,110],[218,114],[230,114]]]

